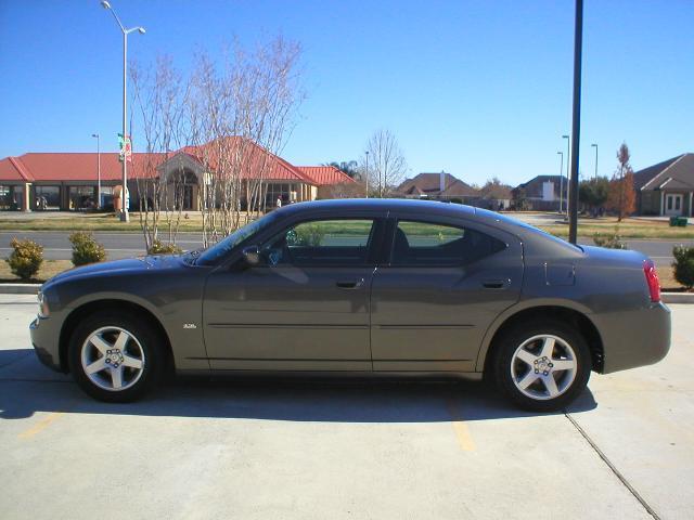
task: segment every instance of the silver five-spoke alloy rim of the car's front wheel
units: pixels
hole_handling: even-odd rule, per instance
[[[82,343],[81,364],[97,387],[121,392],[137,384],[144,373],[144,349],[136,336],[121,327],[101,327]]]

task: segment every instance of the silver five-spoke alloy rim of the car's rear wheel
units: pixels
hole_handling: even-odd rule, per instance
[[[576,352],[558,336],[541,334],[526,339],[511,358],[511,378],[524,395],[548,401],[565,393],[578,370]]]

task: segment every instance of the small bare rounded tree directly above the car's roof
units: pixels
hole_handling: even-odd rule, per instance
[[[385,197],[401,181],[408,170],[407,161],[393,132],[377,130],[367,143],[369,168],[363,171],[369,180],[369,194]]]

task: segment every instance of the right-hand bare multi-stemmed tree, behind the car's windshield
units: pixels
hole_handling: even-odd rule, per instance
[[[303,99],[300,47],[277,38],[236,46],[219,67],[200,54],[188,103],[191,143],[206,176],[201,193],[205,245],[265,211],[271,154],[279,154]]]

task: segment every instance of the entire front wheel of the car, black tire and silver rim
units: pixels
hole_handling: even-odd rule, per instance
[[[97,313],[74,330],[69,368],[80,388],[94,399],[129,402],[158,379],[164,350],[152,326],[126,313]]]

